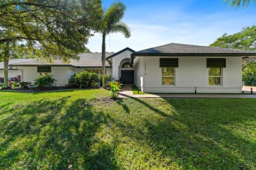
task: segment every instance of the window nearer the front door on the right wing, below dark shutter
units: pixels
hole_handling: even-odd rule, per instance
[[[162,84],[174,85],[175,68],[162,67]]]

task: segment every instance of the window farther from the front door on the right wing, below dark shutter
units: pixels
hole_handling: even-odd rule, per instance
[[[209,68],[209,85],[221,85],[222,69]]]

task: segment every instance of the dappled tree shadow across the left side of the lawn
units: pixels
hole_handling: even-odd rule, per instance
[[[12,112],[0,122],[3,169],[118,169],[113,148],[95,137],[108,116],[89,101],[43,100]]]

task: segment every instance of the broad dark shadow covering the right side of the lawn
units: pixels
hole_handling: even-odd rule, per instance
[[[130,99],[119,103],[125,106],[123,108],[126,113],[130,111],[127,107],[128,103],[126,105],[127,100]],[[255,143],[233,131],[233,128],[239,129],[239,126],[243,126],[243,122],[256,120],[256,109],[253,105],[238,100],[234,108],[234,103],[230,102],[234,99],[160,99],[162,103],[172,108],[172,111],[166,111],[161,108],[161,103],[153,102],[152,105],[148,102],[159,99],[132,98],[132,100],[140,104],[138,107],[145,107],[145,112],[149,110],[152,114],[161,116],[157,119],[146,117],[141,120],[146,128],[144,131],[139,130],[137,125],[126,126],[122,121],[113,119],[115,124],[122,129],[124,135],[137,140],[138,143],[143,143],[144,139],[147,139],[146,143],[149,147],[161,151],[164,157],[172,160],[175,158],[175,162],[180,167],[186,169],[256,167]],[[214,106],[219,107],[212,108],[210,101]]]

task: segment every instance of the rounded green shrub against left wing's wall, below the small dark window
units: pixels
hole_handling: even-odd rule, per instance
[[[37,87],[53,87],[55,86],[55,82],[56,80],[53,75],[45,73],[38,75],[34,84]]]

